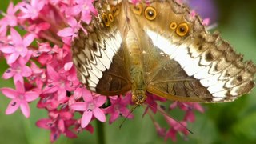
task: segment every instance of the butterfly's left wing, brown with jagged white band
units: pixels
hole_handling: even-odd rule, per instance
[[[98,94],[125,94],[130,90],[130,74],[118,28],[120,7],[113,12],[109,3],[96,2],[95,6],[98,17],[84,27],[89,34],[80,30],[72,45],[78,78]]]

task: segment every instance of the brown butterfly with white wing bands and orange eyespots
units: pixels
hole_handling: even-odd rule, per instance
[[[88,34],[72,43],[79,80],[106,96],[146,94],[181,102],[231,102],[254,87],[256,66],[243,62],[218,32],[174,0],[98,0]]]

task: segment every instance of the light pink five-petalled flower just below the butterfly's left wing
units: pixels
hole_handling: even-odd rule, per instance
[[[101,122],[106,122],[106,116],[99,107],[106,102],[106,97],[98,96],[96,98],[82,97],[85,102],[76,102],[70,106],[71,109],[82,111],[82,128],[86,127],[91,121],[93,115]]]

